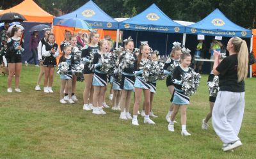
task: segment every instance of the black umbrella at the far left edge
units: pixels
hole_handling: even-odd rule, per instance
[[[1,13],[1,12],[0,12]],[[26,20],[23,15],[20,15],[19,13],[15,12],[8,12],[4,13],[3,15],[0,15],[0,22],[23,22]]]

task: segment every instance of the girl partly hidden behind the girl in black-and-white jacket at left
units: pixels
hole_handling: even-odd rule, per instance
[[[44,56],[42,56],[42,47],[47,42],[49,34],[51,34],[51,29],[45,30],[44,38],[42,38],[40,40],[40,42],[38,43],[37,55],[38,55],[38,61],[39,61],[39,65],[40,65],[40,73],[39,73],[39,75],[37,77],[37,82],[36,82],[36,87],[35,87],[36,91],[41,91],[40,83],[41,83],[41,79],[42,79],[42,77],[44,75],[44,64],[43,64]]]

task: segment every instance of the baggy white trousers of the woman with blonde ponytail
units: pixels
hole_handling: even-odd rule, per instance
[[[212,126],[223,143],[236,140],[244,114],[244,92],[219,91],[212,110]]]

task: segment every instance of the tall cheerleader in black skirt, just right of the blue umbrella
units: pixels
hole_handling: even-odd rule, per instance
[[[92,32],[89,34],[88,45],[84,45],[82,49],[82,61],[84,63],[84,110],[92,110],[93,109],[93,87],[92,87],[92,79],[93,79],[93,71],[90,70],[89,64],[91,62],[93,54],[99,51],[99,34],[97,32]],[[88,102],[89,100],[89,102]]]

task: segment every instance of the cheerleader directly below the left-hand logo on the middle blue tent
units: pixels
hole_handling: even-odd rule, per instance
[[[132,53],[132,50],[134,49],[134,42],[132,41],[131,37],[124,40],[124,48],[127,51],[127,53],[125,54]],[[130,102],[131,93],[134,90],[135,70],[136,62],[134,62],[133,66],[131,66],[130,68],[124,68],[124,70],[122,71],[122,81],[120,83],[120,89],[122,89],[120,102],[121,113],[119,119],[132,119],[130,114]]]

